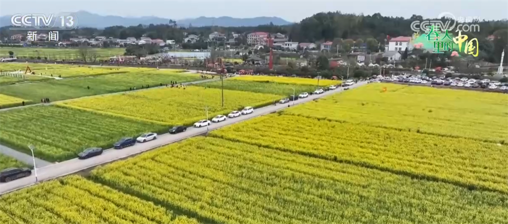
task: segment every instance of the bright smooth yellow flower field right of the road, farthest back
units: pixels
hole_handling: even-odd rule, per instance
[[[284,114],[508,143],[507,108],[508,94],[372,83]]]

